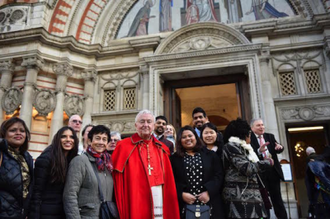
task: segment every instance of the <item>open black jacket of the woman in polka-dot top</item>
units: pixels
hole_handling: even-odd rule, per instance
[[[220,188],[222,187],[223,172],[222,164],[218,155],[206,148],[201,150],[203,162],[203,186],[208,191],[210,196],[209,205],[212,207],[212,218],[224,218],[224,209],[222,207]],[[184,168],[183,157],[174,153],[171,157],[171,164],[178,194],[180,212],[184,209],[186,203],[182,199],[182,193],[188,192],[187,173]],[[183,215],[181,215],[183,216]]]

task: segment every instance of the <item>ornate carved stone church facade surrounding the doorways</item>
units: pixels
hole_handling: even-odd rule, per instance
[[[117,34],[130,28],[125,19],[134,5],[161,1],[24,2],[0,1],[0,120],[19,115],[26,121],[35,158],[73,114],[83,116],[83,126],[105,124],[132,134],[139,110],[167,113],[164,81],[205,76],[189,75],[196,70],[217,76],[211,70],[243,69],[247,118],[265,118],[267,131],[282,143],[287,124],[330,120],[329,0],[288,0],[292,15],[249,21],[244,16],[254,16],[248,12],[234,13],[240,7],[244,12],[247,3],[209,0],[219,22],[173,21],[172,31],[123,38]],[[224,2],[233,4],[232,11],[224,12]],[[276,6],[272,0],[251,2],[251,10],[256,2],[262,10]],[[151,16],[158,18],[155,10]],[[290,161],[288,151],[281,158]],[[291,184],[289,193],[294,197]]]

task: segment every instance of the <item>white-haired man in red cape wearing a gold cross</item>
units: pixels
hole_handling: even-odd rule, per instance
[[[170,151],[153,135],[155,117],[142,110],[137,133],[120,141],[112,154],[116,203],[121,219],[179,219]]]

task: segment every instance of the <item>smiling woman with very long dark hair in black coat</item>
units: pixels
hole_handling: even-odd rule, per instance
[[[35,162],[35,185],[29,218],[62,219],[63,190],[71,160],[77,156],[79,140],[68,126],[61,128]]]

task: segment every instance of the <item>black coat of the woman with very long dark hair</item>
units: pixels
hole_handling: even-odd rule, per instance
[[[46,148],[35,162],[35,185],[31,199],[31,219],[63,219],[64,183],[51,183],[51,146]]]

